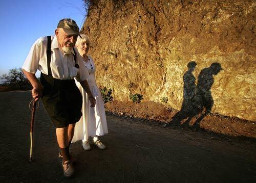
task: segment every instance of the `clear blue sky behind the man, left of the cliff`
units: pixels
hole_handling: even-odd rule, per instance
[[[22,67],[34,41],[54,35],[60,19],[72,18],[81,29],[85,14],[82,0],[0,0],[0,76]]]

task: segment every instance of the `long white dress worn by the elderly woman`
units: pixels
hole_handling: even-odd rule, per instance
[[[79,82],[76,81],[76,86],[82,94],[82,117],[75,125],[75,133],[72,143],[83,140],[87,141],[88,137],[102,136],[108,134],[108,126],[106,125],[105,109],[102,96],[95,81],[95,64],[93,59],[88,56],[88,62],[83,62],[89,72],[87,79],[91,92],[96,99],[94,108],[90,107],[88,94],[83,90]]]

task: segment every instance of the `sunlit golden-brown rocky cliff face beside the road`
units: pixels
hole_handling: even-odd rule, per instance
[[[82,33],[116,100],[256,120],[255,1],[94,2]]]

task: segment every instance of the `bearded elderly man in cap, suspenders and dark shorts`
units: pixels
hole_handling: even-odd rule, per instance
[[[33,98],[42,99],[56,127],[59,156],[62,158],[63,173],[67,177],[74,174],[69,146],[75,123],[82,115],[82,97],[74,78],[88,93],[91,107],[95,106],[95,98],[86,80],[88,71],[82,64],[78,50],[74,48],[79,35],[79,28],[74,20],[60,20],[55,36],[36,40],[23,65],[23,71],[33,87]],[[41,71],[40,82],[35,76],[37,69]]]

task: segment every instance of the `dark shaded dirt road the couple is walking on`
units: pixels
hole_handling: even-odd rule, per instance
[[[55,130],[36,112],[34,162],[29,163],[30,92],[0,93],[0,182],[255,182],[256,144],[206,132],[163,128],[107,115],[108,148],[71,146],[76,175],[66,179]]]

